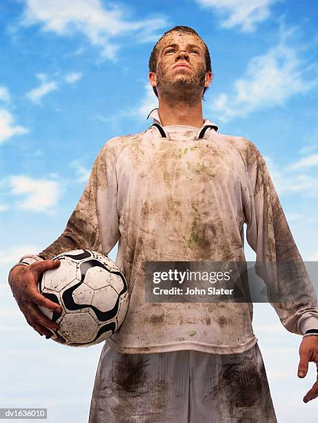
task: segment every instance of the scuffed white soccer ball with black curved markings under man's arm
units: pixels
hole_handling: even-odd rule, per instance
[[[38,283],[39,292],[63,309],[60,315],[39,306],[59,324],[51,339],[87,347],[109,338],[123,323],[129,303],[128,285],[119,267],[90,250],[73,250],[54,259],[61,265],[44,272]]]

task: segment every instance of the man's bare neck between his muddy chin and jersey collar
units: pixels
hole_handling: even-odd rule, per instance
[[[162,126],[188,125],[201,128],[203,125],[202,100],[195,104],[178,102],[167,104],[159,98],[159,117]]]

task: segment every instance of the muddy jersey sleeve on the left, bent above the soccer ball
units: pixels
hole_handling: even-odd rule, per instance
[[[83,194],[63,233],[39,253],[43,259],[70,250],[90,249],[108,254],[119,239],[115,154],[101,149]]]

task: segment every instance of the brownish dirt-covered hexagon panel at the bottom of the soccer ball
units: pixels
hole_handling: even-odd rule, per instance
[[[88,343],[98,331],[96,321],[89,313],[66,314],[59,325],[59,332],[70,342]]]

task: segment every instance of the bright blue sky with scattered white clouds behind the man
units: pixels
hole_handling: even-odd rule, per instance
[[[148,85],[148,57],[172,26],[192,26],[206,41],[214,79],[204,117],[219,132],[257,145],[303,259],[317,261],[317,21],[318,5],[310,0],[1,1],[0,315],[8,373],[0,386],[10,393],[3,406],[49,404],[48,420],[58,422],[68,412],[68,394],[74,421],[87,420],[101,346],[62,351],[46,343],[24,322],[6,275],[21,255],[61,234],[102,145],[151,124],[146,116],[157,99]],[[248,247],[246,256],[254,258]],[[288,334],[264,304],[255,306],[255,332],[279,422],[300,415],[314,422],[317,405],[301,398],[315,370],[308,380],[296,377],[300,337]],[[49,356],[59,357],[57,370]],[[65,362],[73,375],[83,375],[73,393],[67,384],[55,389],[57,377],[68,379]],[[54,383],[41,377],[21,384],[26,368]]]

